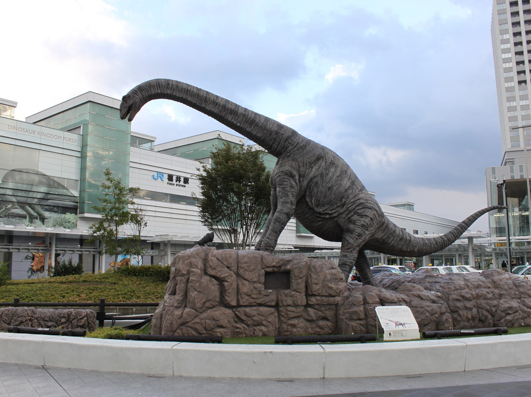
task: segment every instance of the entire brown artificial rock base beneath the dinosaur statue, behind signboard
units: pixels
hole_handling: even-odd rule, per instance
[[[303,254],[195,247],[175,256],[151,322],[162,335],[363,334],[375,306],[409,306],[419,331],[531,326],[531,281],[501,270],[379,274],[345,283],[331,261]]]

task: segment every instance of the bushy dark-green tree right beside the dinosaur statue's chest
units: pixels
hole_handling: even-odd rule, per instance
[[[225,246],[250,248],[271,208],[263,152],[225,143],[210,157],[211,166],[198,169],[201,222]]]

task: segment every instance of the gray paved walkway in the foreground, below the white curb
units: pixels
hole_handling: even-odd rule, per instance
[[[0,397],[98,396],[531,396],[531,365],[409,376],[242,379],[126,374],[0,363]]]

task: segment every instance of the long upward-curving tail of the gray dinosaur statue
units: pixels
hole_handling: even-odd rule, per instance
[[[456,241],[472,223],[481,215],[492,211],[504,209],[501,205],[492,205],[470,215],[455,228],[438,237],[418,237],[400,229],[387,217],[381,227],[382,234],[376,241],[367,244],[370,249],[382,254],[419,257],[441,251]]]

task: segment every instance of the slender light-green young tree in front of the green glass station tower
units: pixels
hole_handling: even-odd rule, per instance
[[[121,178],[114,178],[112,171],[104,171],[105,182],[100,185],[103,197],[98,197],[101,205],[93,205],[92,209],[101,214],[101,219],[89,226],[91,243],[101,240],[104,244],[101,252],[114,256],[131,255],[132,247],[136,245],[140,236],[120,238],[120,228],[129,225],[136,218],[129,211],[129,206],[135,205],[133,197],[140,190],[139,187],[127,187]]]

